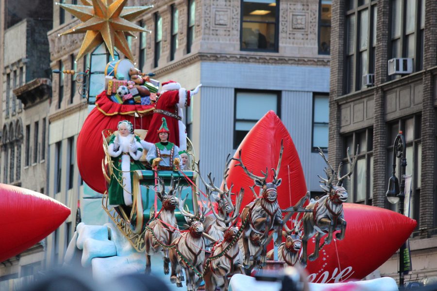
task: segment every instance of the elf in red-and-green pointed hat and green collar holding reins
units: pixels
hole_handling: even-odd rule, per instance
[[[168,137],[171,135],[166,118],[162,117],[162,125],[157,133],[156,136],[158,136],[159,142],[150,147],[146,160],[152,168],[158,166],[158,170],[161,171],[174,171],[180,162],[179,147],[168,141]]]

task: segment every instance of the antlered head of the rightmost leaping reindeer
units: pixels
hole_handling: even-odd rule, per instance
[[[348,161],[351,164],[351,169],[349,173],[347,173],[346,175],[340,176],[341,167],[343,163],[340,162],[340,164],[338,165],[338,171],[336,172],[334,168],[331,166],[331,164],[328,162],[328,160],[326,159],[323,151],[319,148],[319,155],[323,158],[325,163],[328,165],[328,168],[323,169],[323,171],[326,173],[327,179],[322,178],[318,175],[318,177],[321,180],[320,182],[323,183],[323,185],[320,185],[320,188],[323,189],[325,193],[329,194],[329,199],[331,199],[331,201],[337,204],[346,202],[348,200],[349,194],[347,193],[346,189],[344,189],[343,187],[343,179],[345,178],[350,179],[353,173],[353,168],[355,167],[356,159],[358,158],[358,146],[356,146],[356,153],[355,153],[355,157],[353,158],[353,161],[349,156],[349,147],[347,148],[346,151],[347,151]],[[337,184],[333,185],[333,181],[336,175],[337,175]]]

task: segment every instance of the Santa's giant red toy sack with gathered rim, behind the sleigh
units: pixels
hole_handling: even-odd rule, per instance
[[[77,166],[81,177],[91,189],[99,193],[106,190],[101,170],[101,161],[104,158],[102,130],[117,130],[118,122],[124,119],[132,122],[134,129],[148,129],[153,109],[152,105],[112,102],[106,96],[106,91],[96,97],[96,107],[85,119],[77,137]]]

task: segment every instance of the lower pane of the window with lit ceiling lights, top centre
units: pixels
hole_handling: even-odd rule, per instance
[[[243,22],[244,49],[275,49],[275,24]]]

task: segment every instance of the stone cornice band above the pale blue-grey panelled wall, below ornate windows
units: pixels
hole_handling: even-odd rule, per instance
[[[247,55],[247,54],[217,54],[217,53],[196,53],[187,56],[180,61],[158,68],[154,71],[156,75],[165,75],[178,70],[186,65],[196,62],[224,62],[224,63],[246,63],[263,65],[303,65],[329,67],[330,60],[327,57],[321,58],[297,58],[274,55]]]

